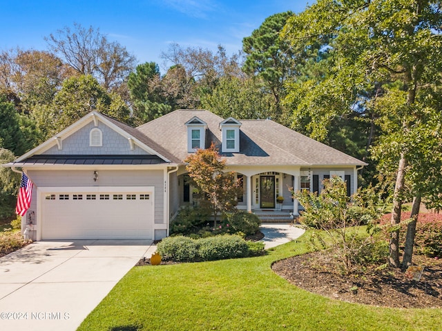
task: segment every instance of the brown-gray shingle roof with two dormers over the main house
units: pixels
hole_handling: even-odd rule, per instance
[[[168,152],[168,155],[173,155],[174,161],[175,158],[183,161],[191,154],[187,152],[187,128],[184,123],[195,116],[207,123],[206,147],[213,142],[220,148],[222,137],[219,124],[224,119],[207,110],[175,110],[139,126],[137,130],[151,141],[155,141],[162,150]],[[366,164],[274,121],[241,119],[239,121],[242,123],[240,152],[222,154],[227,159],[227,164],[300,166]]]

